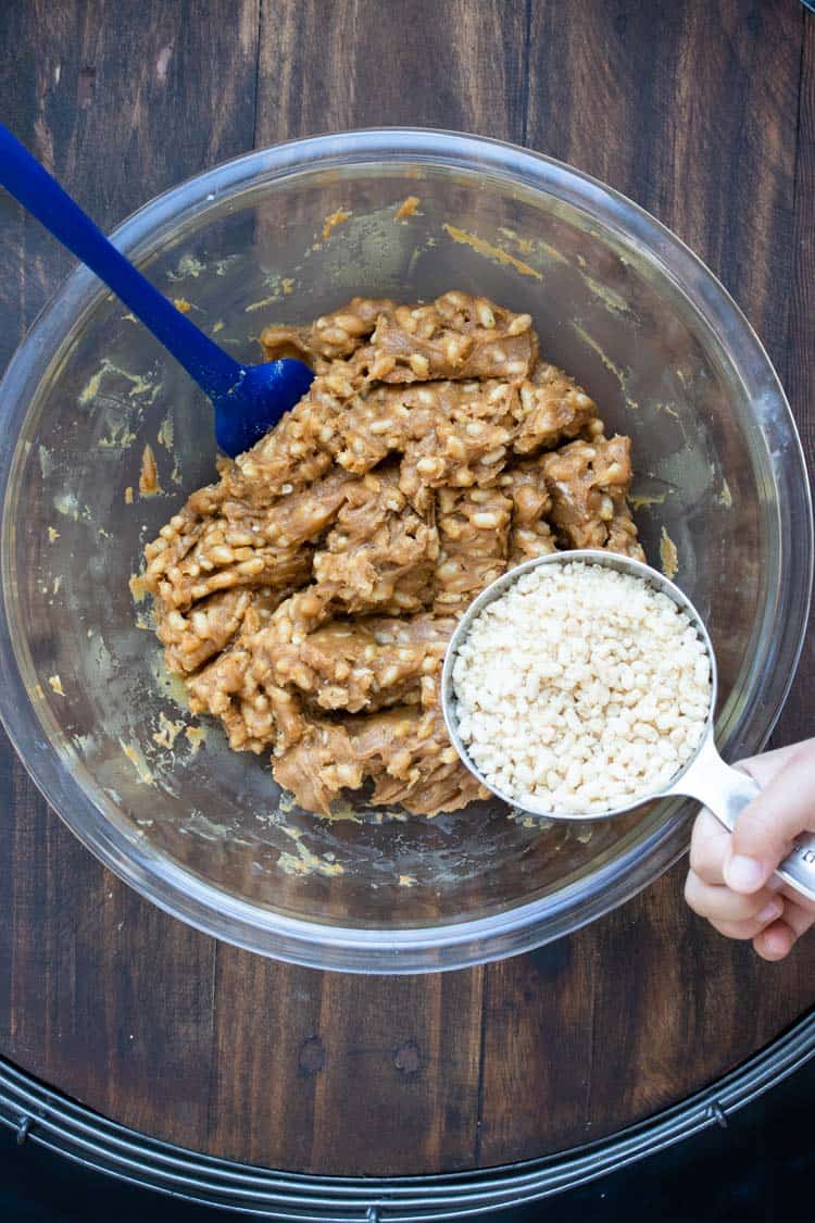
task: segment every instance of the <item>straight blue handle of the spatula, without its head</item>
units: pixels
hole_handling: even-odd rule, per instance
[[[211,399],[239,382],[243,366],[154,289],[1,124],[0,185],[112,289]]]

